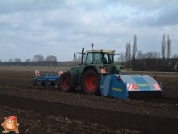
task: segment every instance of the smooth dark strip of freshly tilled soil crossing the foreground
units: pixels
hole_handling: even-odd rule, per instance
[[[142,133],[176,133],[175,130],[178,126],[177,119],[79,107],[8,95],[0,95],[0,105],[8,105],[13,108],[24,110],[33,110],[43,116],[62,115],[74,120],[86,120],[102,124],[112,129],[122,127],[138,130]]]

